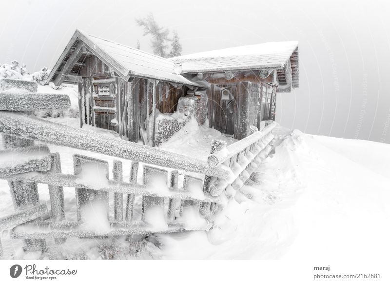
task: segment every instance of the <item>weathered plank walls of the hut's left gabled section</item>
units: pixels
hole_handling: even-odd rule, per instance
[[[80,123],[94,124],[100,128],[114,130],[129,141],[140,140],[139,128],[146,129],[145,121],[153,109],[153,82],[143,78],[131,78],[125,81],[118,76],[112,77],[109,67],[94,55],[83,57],[82,64],[77,68],[82,77],[82,82],[78,84],[81,97],[79,100],[80,114],[83,109],[85,110]],[[99,86],[103,85],[109,87],[108,96],[99,95]],[[178,99],[185,96],[187,90],[186,86],[176,88],[168,82],[159,81],[156,85],[156,108],[161,113],[175,112]],[[86,94],[89,94],[89,100]],[[130,94],[131,98],[128,97]],[[128,107],[129,101],[131,102],[130,108]],[[132,119],[130,133],[129,113]],[[118,122],[117,126],[111,123],[114,119]]]

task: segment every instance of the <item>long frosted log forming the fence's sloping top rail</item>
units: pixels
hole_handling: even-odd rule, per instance
[[[225,178],[230,174],[227,168],[213,168],[207,162],[188,159],[184,155],[15,113],[0,111],[0,132],[209,176]]]

